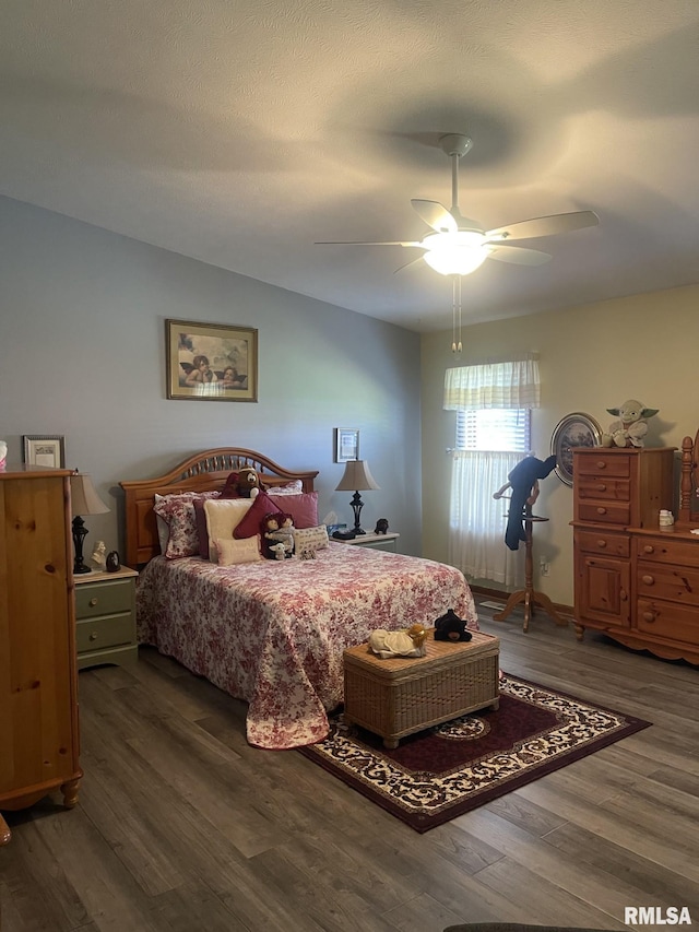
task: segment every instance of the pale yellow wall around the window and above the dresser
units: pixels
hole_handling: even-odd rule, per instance
[[[476,325],[464,329],[461,358],[451,353],[451,332],[423,337],[425,556],[448,557],[451,460],[445,450],[453,447],[457,415],[441,410],[447,368],[540,353],[542,406],[533,413],[533,449],[542,459],[550,452],[552,434],[561,417],[582,411],[605,429],[613,420],[606,409],[627,398],[660,409],[649,422],[647,446],[679,447],[683,437],[694,437],[699,426],[698,306],[699,285],[694,285]],[[555,602],[571,605],[572,489],[554,473],[541,484],[536,512],[549,521],[536,527],[534,586]],[[550,563],[550,574],[543,579],[536,566],[541,555]]]

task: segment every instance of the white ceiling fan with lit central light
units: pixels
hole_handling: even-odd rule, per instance
[[[486,231],[477,221],[463,216],[459,209],[459,161],[473,148],[473,141],[463,133],[447,133],[439,138],[439,143],[451,158],[451,208],[447,210],[437,201],[418,198],[411,200],[416,213],[431,227],[431,233],[414,241],[335,241],[316,245],[415,247],[423,249],[424,252],[407,266],[424,259],[430,268],[442,275],[469,275],[475,272],[486,259],[513,262],[518,266],[541,266],[550,259],[548,252],[511,246],[509,240],[554,236],[582,229],[585,226],[596,226],[600,223],[594,211],[573,211],[524,220],[509,226]],[[406,266],[401,267],[401,269],[405,268]]]

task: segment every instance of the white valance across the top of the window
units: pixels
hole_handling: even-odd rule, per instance
[[[459,366],[445,374],[445,410],[538,408],[538,359]]]

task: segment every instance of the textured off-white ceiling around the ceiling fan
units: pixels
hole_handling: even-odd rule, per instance
[[[447,207],[599,227],[487,261],[464,321],[699,282],[697,0],[3,0],[0,192],[417,331]]]

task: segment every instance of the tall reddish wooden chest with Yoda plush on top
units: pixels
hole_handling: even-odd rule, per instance
[[[628,647],[684,657],[668,609],[663,616],[653,609],[656,616],[649,621],[651,583],[642,581],[650,576],[645,564],[666,565],[670,559],[657,556],[660,542],[668,540],[660,530],[659,514],[673,508],[675,448],[585,447],[572,455],[578,638],[593,628]],[[699,566],[699,554],[697,561]],[[670,589],[664,592],[668,595]],[[674,653],[668,652],[670,642],[675,644]]]

